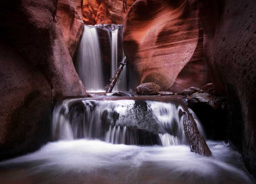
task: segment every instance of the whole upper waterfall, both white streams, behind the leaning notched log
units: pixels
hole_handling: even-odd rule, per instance
[[[103,92],[122,61],[123,25],[84,26],[77,53],[76,70],[87,92]],[[126,66],[113,91],[128,91]]]

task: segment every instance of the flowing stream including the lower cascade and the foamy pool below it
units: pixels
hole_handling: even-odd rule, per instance
[[[241,155],[207,141],[192,153],[182,101],[165,97],[66,99],[53,111],[52,138],[35,153],[0,162],[1,183],[253,184]],[[200,120],[196,120],[202,135]]]

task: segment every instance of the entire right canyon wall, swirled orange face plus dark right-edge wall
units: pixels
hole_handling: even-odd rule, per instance
[[[214,93],[227,96],[227,139],[256,176],[254,7],[253,0],[137,0],[123,44],[138,84],[155,82],[180,93],[212,81]]]

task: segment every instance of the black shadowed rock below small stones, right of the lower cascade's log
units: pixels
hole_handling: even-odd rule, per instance
[[[226,138],[226,97],[214,96],[208,93],[194,93],[189,96],[187,104],[202,122],[207,138]]]

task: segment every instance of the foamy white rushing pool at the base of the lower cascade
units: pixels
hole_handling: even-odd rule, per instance
[[[213,156],[189,146],[135,146],[78,139],[50,142],[0,163],[2,184],[253,184],[241,156],[207,142]]]

